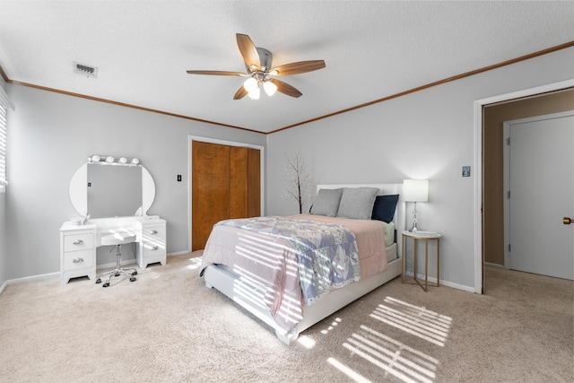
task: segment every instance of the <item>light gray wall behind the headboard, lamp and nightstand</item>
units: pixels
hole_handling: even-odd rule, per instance
[[[300,151],[317,184],[429,178],[419,227],[444,236],[441,280],[474,291],[474,182],[481,174],[473,167],[472,177],[462,177],[476,155],[474,100],[574,78],[572,63],[574,48],[563,49],[269,135],[267,213],[297,213],[282,197],[285,153]]]

